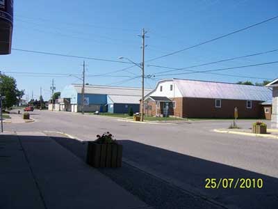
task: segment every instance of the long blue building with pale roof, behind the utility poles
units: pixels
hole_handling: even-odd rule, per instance
[[[152,91],[145,89],[145,94]],[[127,113],[129,107],[139,111],[141,88],[85,85],[84,111]],[[82,111],[82,85],[65,86],[58,100],[60,111]]]

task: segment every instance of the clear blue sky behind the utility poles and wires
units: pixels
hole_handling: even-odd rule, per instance
[[[245,26],[261,22],[278,15],[277,0],[176,0],[176,1],[55,1],[55,0],[15,0],[15,21],[13,48],[27,49],[74,56],[90,56],[101,59],[118,60],[125,56],[137,63],[141,61],[141,41],[137,35],[144,27],[147,30],[145,60],[190,47]],[[278,19],[261,24],[232,36],[215,40],[208,44],[188,49],[179,54],[167,56],[146,63],[146,75],[167,69],[149,67],[147,64],[183,68],[235,56],[278,49]],[[205,65],[190,70],[213,70],[240,65],[252,65],[278,61],[278,52],[252,56]],[[129,67],[126,63],[85,60],[86,74],[99,75]],[[42,95],[50,97],[51,79],[57,91],[65,85],[81,83],[80,79],[69,76],[81,74],[83,59],[32,54],[12,51],[0,56],[0,70],[17,79],[19,89],[31,98]],[[219,71],[230,75],[275,79],[278,77],[278,64],[262,65]],[[12,73],[17,72],[17,73]],[[26,75],[18,72],[65,73],[63,77],[52,75]],[[178,73],[184,71],[177,71]],[[135,77],[140,68],[129,72],[116,72],[111,75]],[[159,75],[159,74],[157,74]],[[169,75],[156,79],[179,77],[219,82],[238,82],[263,79],[247,79],[227,75],[195,73],[188,75]],[[141,80],[129,77],[88,77],[89,84],[114,84],[115,86],[138,86]],[[146,87],[154,88],[154,79],[146,79]],[[25,98],[25,97],[24,97]]]

